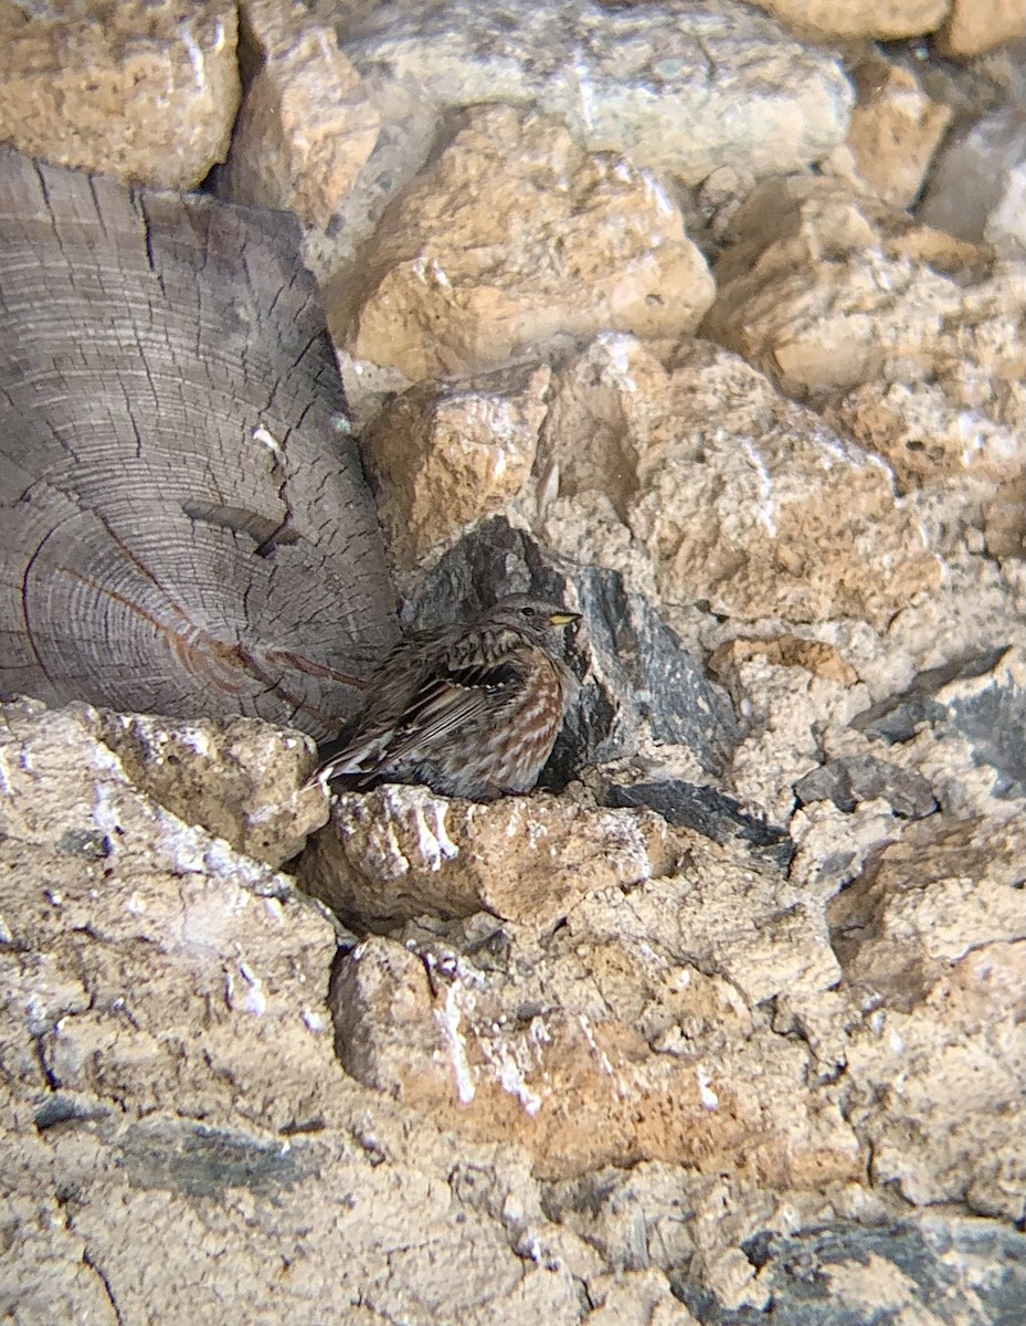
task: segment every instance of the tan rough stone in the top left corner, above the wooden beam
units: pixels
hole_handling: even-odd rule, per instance
[[[228,155],[236,34],[225,0],[4,4],[0,141],[57,166],[195,188]]]

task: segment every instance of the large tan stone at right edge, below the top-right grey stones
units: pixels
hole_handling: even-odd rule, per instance
[[[988,249],[811,176],[758,186],[733,237],[703,330],[789,395],[939,381],[1001,408],[1022,375],[1026,273]]]

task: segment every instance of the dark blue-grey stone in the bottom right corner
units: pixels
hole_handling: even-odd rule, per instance
[[[762,1232],[744,1244],[770,1292],[764,1311],[728,1309],[691,1277],[673,1293],[703,1326],[1022,1326],[1026,1235],[997,1220],[927,1216],[867,1228],[840,1223],[795,1235]],[[889,1262],[897,1274],[874,1273]],[[867,1276],[858,1297],[858,1268]],[[842,1272],[839,1274],[839,1272]]]

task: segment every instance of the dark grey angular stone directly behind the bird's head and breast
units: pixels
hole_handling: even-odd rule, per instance
[[[685,745],[707,773],[722,773],[738,741],[730,699],[651,603],[627,593],[619,573],[559,557],[504,517],[486,521],[441,558],[403,619],[407,627],[436,626],[528,590],[577,602],[586,622],[569,647],[570,666],[583,679],[581,695],[542,786],[562,788],[586,765],[634,754],[646,723],[656,741]]]

